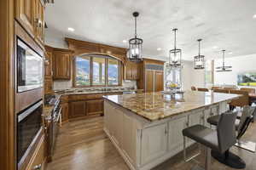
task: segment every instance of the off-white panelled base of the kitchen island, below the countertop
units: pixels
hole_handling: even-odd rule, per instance
[[[150,122],[108,99],[104,101],[104,131],[132,170],[148,170],[183,150],[184,128],[202,124],[227,110],[226,102]],[[188,144],[193,141],[188,140]]]

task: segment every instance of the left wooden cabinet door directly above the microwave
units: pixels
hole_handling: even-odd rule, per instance
[[[33,0],[16,0],[15,1],[15,18],[28,31],[32,37],[34,36],[34,4]]]

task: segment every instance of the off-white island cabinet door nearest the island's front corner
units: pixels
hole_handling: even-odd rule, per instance
[[[167,136],[166,123],[143,129],[141,141],[142,165],[166,153]]]

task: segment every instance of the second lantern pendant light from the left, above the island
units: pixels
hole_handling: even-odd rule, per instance
[[[174,48],[169,51],[169,62],[167,63],[167,67],[169,68],[181,68],[181,57],[182,57],[182,50],[177,48],[176,42],[176,33],[177,28],[172,29],[174,32]]]

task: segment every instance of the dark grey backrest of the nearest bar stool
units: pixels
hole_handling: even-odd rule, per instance
[[[236,144],[236,112],[227,111],[220,115],[217,126],[218,148],[221,153]]]

